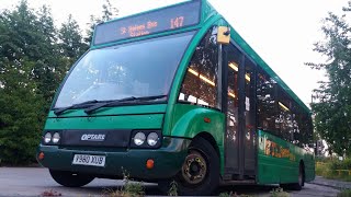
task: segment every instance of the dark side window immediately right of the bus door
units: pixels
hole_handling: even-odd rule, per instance
[[[278,136],[276,128],[276,82],[263,70],[258,69],[257,73],[257,125],[272,135]]]

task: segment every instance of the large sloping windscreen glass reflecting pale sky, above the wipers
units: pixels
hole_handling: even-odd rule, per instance
[[[90,100],[166,95],[193,33],[89,51],[69,74],[55,108]]]

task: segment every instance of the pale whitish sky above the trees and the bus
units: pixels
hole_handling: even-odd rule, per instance
[[[19,0],[0,0],[0,10],[12,9]],[[32,8],[47,4],[57,26],[69,14],[81,28],[90,15],[99,15],[103,0],[27,0]],[[110,0],[120,10],[118,18],[184,0]],[[305,62],[324,62],[326,57],[313,51],[325,39],[320,27],[328,12],[341,14],[348,0],[208,0],[244,39],[309,106],[312,91],[325,80],[322,71]]]

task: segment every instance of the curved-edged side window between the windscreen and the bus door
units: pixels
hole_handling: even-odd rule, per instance
[[[203,37],[189,63],[179,94],[181,102],[210,107],[218,106],[218,46],[213,31],[210,30]]]

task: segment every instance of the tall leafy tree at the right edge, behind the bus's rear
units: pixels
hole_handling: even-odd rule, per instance
[[[325,70],[327,81],[314,91],[317,103],[312,104],[315,127],[326,140],[329,152],[351,155],[351,1],[343,14],[333,13],[321,27],[326,39],[315,44],[315,51],[328,58],[325,63],[307,63]]]

